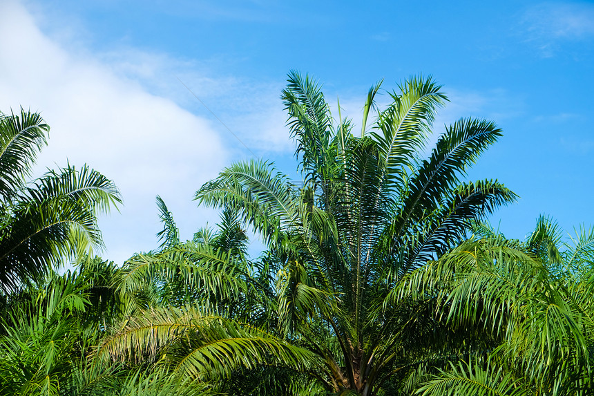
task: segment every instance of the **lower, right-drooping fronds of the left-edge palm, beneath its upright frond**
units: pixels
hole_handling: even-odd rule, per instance
[[[0,227],[0,284],[15,289],[39,280],[63,258],[102,247],[97,211],[121,202],[113,182],[83,167],[50,171],[23,190],[3,213]]]

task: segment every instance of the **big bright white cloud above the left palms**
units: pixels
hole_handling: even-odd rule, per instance
[[[218,125],[119,73],[128,67],[129,75],[151,79],[151,70],[162,70],[155,58],[110,64],[44,35],[20,3],[2,2],[0,15],[0,110],[30,107],[50,124],[40,173],[64,166],[66,158],[77,166],[87,162],[122,191],[122,214],[101,220],[106,258],[122,261],[155,247],[156,194],[178,215],[184,235],[206,219],[213,223],[212,212],[199,211],[191,199],[228,162],[230,152]]]

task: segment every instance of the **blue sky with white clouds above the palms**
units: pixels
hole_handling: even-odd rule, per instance
[[[493,225],[594,226],[594,3],[0,0],[0,111],[51,126],[37,175],[87,163],[114,180],[124,206],[99,219],[99,253],[117,263],[158,246],[157,194],[186,239],[217,222],[193,196],[229,164],[296,174],[289,70],[355,124],[379,79],[432,75],[450,100],[434,140],[460,117],[504,131],[468,172],[520,196]]]

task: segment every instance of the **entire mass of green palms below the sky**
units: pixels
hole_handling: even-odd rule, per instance
[[[221,220],[191,241],[157,197],[161,244],[122,267],[88,253],[113,183],[88,167],[28,182],[48,127],[2,115],[0,394],[588,395],[594,230],[497,234],[486,220],[515,194],[463,181],[497,126],[459,120],[428,151],[441,86],[413,77],[385,109],[380,89],[355,134],[290,73],[303,183],[233,164],[196,192]]]

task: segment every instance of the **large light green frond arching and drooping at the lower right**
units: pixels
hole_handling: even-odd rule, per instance
[[[576,285],[559,283],[518,241],[487,238],[463,243],[405,276],[385,305],[434,296],[436,312],[451,326],[479,328],[500,340],[483,354],[506,373],[521,373],[524,384],[537,389],[570,394],[591,378],[591,313],[580,297],[587,289],[577,292]]]

